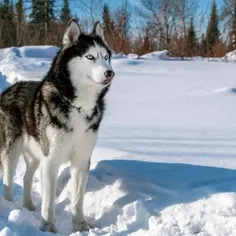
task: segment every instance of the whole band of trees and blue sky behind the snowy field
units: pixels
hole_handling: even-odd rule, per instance
[[[219,57],[236,50],[236,0],[222,0],[220,6],[213,1],[207,6],[210,14],[201,12],[199,0],[137,3],[133,6],[123,0],[114,9],[103,0],[63,0],[60,4],[56,0],[4,0],[0,3],[0,47],[60,46],[69,19],[75,17],[86,31],[99,19],[116,52],[140,55],[167,49],[172,56]],[[83,14],[72,15],[72,7]]]

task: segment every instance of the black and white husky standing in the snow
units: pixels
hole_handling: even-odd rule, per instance
[[[111,51],[99,22],[84,34],[72,19],[63,46],[41,82],[19,82],[0,97],[0,157],[4,197],[13,201],[19,156],[26,162],[24,207],[35,210],[32,179],[41,163],[41,230],[57,232],[55,194],[58,169],[71,162],[71,213],[75,231],[89,230],[83,212],[90,157],[114,72]]]

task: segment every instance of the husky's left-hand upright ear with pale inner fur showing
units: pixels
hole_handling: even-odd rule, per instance
[[[63,45],[71,45],[78,40],[81,34],[81,29],[77,24],[76,20],[73,18],[67,25],[67,29],[63,36]]]

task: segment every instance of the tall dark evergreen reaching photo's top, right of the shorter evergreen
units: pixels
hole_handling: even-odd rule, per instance
[[[216,2],[213,2],[210,20],[207,26],[206,33],[206,48],[207,53],[212,54],[212,49],[214,44],[220,41],[220,31],[219,31],[219,16],[217,13],[217,5]]]

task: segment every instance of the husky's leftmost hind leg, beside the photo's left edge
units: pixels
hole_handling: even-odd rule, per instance
[[[1,161],[3,165],[4,198],[7,201],[13,202],[13,178],[20,154],[20,140],[16,140],[12,145],[6,145],[1,152]]]

